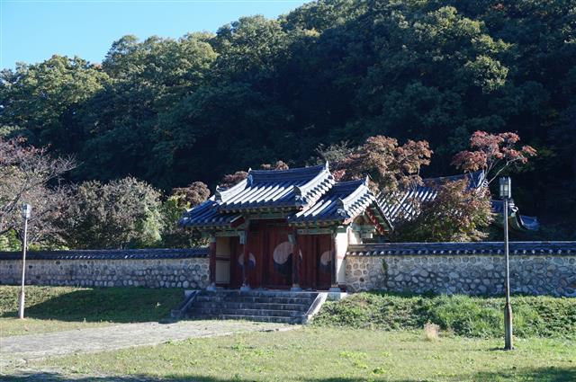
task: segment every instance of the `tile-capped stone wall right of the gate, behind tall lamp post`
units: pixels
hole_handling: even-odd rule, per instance
[[[500,295],[503,248],[501,243],[351,245],[347,288]],[[510,289],[576,297],[576,242],[510,244]]]

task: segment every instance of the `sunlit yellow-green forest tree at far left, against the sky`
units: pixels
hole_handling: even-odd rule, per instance
[[[77,119],[85,102],[109,81],[102,68],[82,58],[54,55],[0,73],[0,126],[11,126],[37,146],[76,154],[85,139]]]

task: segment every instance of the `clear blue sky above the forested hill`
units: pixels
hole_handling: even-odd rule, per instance
[[[126,34],[178,38],[216,31],[240,16],[275,18],[300,0],[0,0],[0,68],[52,54],[102,61]]]

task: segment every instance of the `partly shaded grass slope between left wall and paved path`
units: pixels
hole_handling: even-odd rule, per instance
[[[0,286],[0,337],[158,321],[184,298],[182,289],[27,286],[25,290],[26,319],[19,320],[20,287]]]

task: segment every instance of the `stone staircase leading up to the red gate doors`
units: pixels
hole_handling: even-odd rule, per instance
[[[305,324],[326,299],[319,292],[276,290],[201,291],[186,316],[198,319],[249,320]]]

